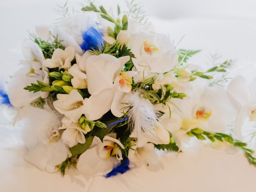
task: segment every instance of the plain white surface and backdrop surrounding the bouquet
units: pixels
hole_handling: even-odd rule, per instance
[[[75,4],[76,1],[71,2]],[[190,60],[191,63],[204,64],[208,53],[216,50],[224,59],[256,60],[254,1],[182,0],[177,3],[166,0],[165,5],[159,2],[164,1],[148,0],[146,4],[146,10],[153,13],[156,30],[168,32],[174,42],[186,34],[178,48],[203,50]],[[0,1],[2,78],[12,74],[22,59],[20,44],[27,37],[27,30],[32,31],[36,24],[51,23],[52,18],[57,17],[52,10],[54,4],[52,0]],[[26,149],[18,139],[19,135],[20,131],[16,129],[0,129],[0,191],[3,192],[253,192],[256,187],[256,167],[249,165],[242,154],[231,155],[207,147],[163,158],[162,169],[158,172],[134,169],[114,178],[95,177],[92,182],[86,182],[82,176],[76,175],[77,172],[71,171],[62,178],[60,174],[41,172],[25,162],[22,154]]]

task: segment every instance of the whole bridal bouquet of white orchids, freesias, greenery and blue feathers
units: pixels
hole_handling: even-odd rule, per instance
[[[181,152],[195,137],[240,148],[256,164],[254,151],[227,131],[234,122],[240,136],[243,121],[256,121],[256,80],[221,86],[232,61],[189,65],[199,50],[174,47],[138,9],[114,14],[90,3],[82,11],[37,26],[1,91],[23,123],[28,162],[110,177],[158,165],[157,150]]]

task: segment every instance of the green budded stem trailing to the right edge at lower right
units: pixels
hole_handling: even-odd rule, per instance
[[[187,135],[190,137],[195,136],[196,138],[198,138],[198,140],[206,140],[206,138],[208,138],[212,142],[215,142],[215,140],[219,140],[220,142],[228,142],[228,143],[242,149],[244,151],[244,154],[245,154],[246,158],[248,159],[248,161],[251,164],[256,165],[256,158],[254,158],[252,156],[252,154],[254,154],[254,150],[246,148],[246,146],[247,146],[246,143],[244,143],[240,140],[234,139],[231,135],[224,134],[224,133],[211,133],[211,132],[204,131],[200,128],[195,128],[195,129],[190,130],[189,132],[187,132]]]

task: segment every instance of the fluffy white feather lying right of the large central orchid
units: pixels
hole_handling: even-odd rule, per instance
[[[140,138],[142,132],[150,137],[156,137],[156,126],[159,126],[158,112],[154,109],[152,103],[141,98],[138,92],[130,97],[129,126],[132,127],[131,137]]]

